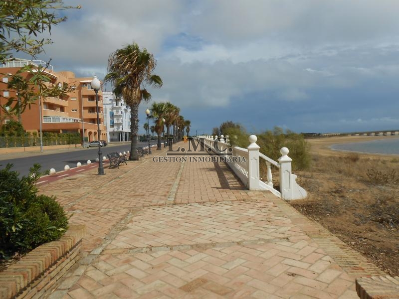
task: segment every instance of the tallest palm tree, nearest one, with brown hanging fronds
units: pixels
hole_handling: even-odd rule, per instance
[[[137,43],[126,45],[111,53],[108,58],[108,74],[104,82],[111,82],[116,99],[124,98],[131,109],[129,160],[138,160],[137,136],[139,131],[139,105],[142,100],[149,101],[151,93],[146,84],[160,88],[162,79],[154,75],[157,63],[146,48],[140,49]]]

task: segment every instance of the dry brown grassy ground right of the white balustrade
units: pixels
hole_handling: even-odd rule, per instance
[[[397,158],[313,154],[309,171],[296,172],[308,192],[292,201],[390,275],[399,275]]]

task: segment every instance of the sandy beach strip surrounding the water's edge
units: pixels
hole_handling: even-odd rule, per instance
[[[330,146],[344,143],[357,143],[357,142],[369,142],[373,140],[385,140],[385,139],[399,139],[399,136],[335,136],[335,137],[324,137],[307,139],[306,141],[311,145],[311,152],[322,155],[342,155],[347,154],[348,151],[340,151],[330,149]],[[378,153],[364,153],[358,152],[360,156],[376,156],[382,157],[398,157],[398,154],[378,154]]]

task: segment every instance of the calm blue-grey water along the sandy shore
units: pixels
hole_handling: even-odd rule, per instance
[[[332,145],[331,149],[369,153],[399,154],[399,138]]]

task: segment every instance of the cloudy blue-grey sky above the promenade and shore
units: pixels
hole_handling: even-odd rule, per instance
[[[62,11],[37,58],[102,79],[109,55],[137,42],[164,82],[152,101],[180,107],[191,135],[225,121],[252,134],[399,130],[398,0],[65,3],[82,8]]]

